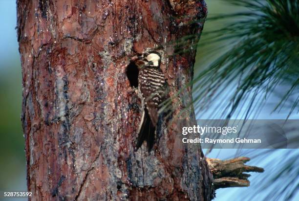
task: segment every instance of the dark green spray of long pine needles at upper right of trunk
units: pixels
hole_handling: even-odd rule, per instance
[[[226,118],[240,109],[247,100],[245,118],[255,109],[261,96],[266,101],[278,86],[290,86],[283,91],[274,110],[287,108],[289,115],[298,111],[299,86],[299,1],[294,0],[226,0],[244,6],[248,11],[218,15],[208,21],[229,22],[225,27],[203,32],[201,45],[226,43],[228,50],[206,70],[194,78],[195,105],[207,108],[219,94],[227,93],[233,82],[236,87],[223,107]],[[236,21],[231,22],[230,19]],[[217,51],[219,51],[217,49]],[[212,51],[215,54],[215,51]],[[291,104],[286,104],[291,102]],[[218,117],[219,118],[219,117]]]

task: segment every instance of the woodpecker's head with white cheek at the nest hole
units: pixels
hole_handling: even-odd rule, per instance
[[[159,67],[161,64],[161,55],[156,51],[149,51],[140,56],[132,58],[138,68],[144,66]]]

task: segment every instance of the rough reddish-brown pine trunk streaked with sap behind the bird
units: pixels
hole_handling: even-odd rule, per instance
[[[211,200],[202,151],[181,143],[175,123],[161,125],[153,151],[134,151],[142,108],[126,75],[132,56],[155,49],[170,96],[183,89],[193,76],[204,0],[17,3],[32,200]],[[191,87],[174,96],[173,115],[191,101]],[[187,114],[194,123],[192,107]]]

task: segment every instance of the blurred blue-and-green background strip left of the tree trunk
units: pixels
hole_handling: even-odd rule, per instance
[[[26,190],[16,1],[0,0],[0,190]]]

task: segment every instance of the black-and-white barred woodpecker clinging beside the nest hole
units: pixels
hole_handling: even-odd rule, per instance
[[[150,151],[156,137],[159,109],[167,96],[167,82],[160,68],[161,55],[158,52],[146,52],[135,57],[134,62],[139,70],[138,93],[142,96],[144,108],[138,129],[136,151],[144,141],[147,142],[148,151]]]

